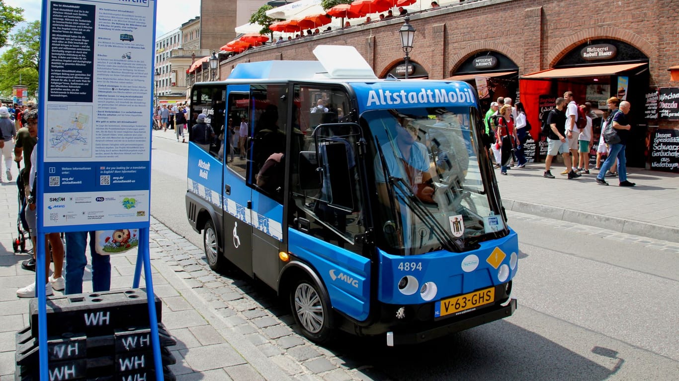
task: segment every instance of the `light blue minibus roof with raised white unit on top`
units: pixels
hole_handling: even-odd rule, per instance
[[[378,79],[353,46],[318,45],[318,61],[261,61],[238,64],[229,79]]]

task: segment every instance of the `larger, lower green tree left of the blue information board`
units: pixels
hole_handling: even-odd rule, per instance
[[[26,85],[33,94],[38,87],[40,22],[19,28],[10,40],[10,49],[0,56],[0,92],[12,94],[12,86]]]

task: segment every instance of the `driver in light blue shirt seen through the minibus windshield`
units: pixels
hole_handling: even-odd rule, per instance
[[[419,129],[414,119],[399,117],[395,123],[396,137],[382,144],[382,152],[390,176],[405,180],[418,199],[434,203],[434,188],[430,185],[432,175],[427,148],[417,142]],[[375,178],[386,182],[382,171],[380,156],[375,157]]]

